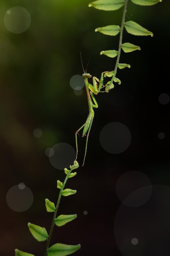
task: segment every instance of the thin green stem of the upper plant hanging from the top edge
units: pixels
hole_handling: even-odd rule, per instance
[[[119,64],[127,4],[128,4],[128,0],[125,0],[124,10],[123,10],[123,15],[122,15],[122,20],[121,20],[121,27],[120,27],[119,49],[118,49],[117,60],[116,60],[116,64],[115,64],[115,70],[114,70],[115,72],[114,72],[114,75],[111,79],[111,83],[113,83],[113,80],[116,76],[117,67],[118,67],[118,64]]]

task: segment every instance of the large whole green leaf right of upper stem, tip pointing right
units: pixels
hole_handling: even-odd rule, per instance
[[[125,22],[126,31],[135,36],[153,36],[153,33],[136,22],[129,20]]]

